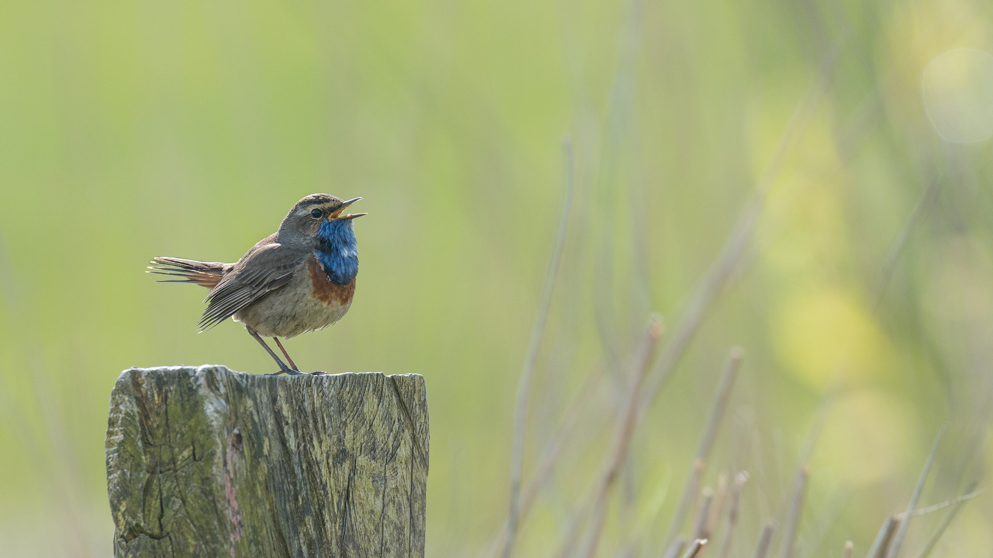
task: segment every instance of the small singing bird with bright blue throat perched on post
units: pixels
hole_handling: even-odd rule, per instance
[[[234,318],[279,364],[276,375],[301,374],[279,338],[327,328],[352,306],[358,274],[352,219],[366,213],[343,212],[359,200],[312,194],[290,209],[279,230],[235,263],[157,257],[152,263],[160,265],[149,267],[150,273],[180,277],[163,283],[211,289],[204,299],[202,333]],[[262,338],[275,340],[289,365]]]

